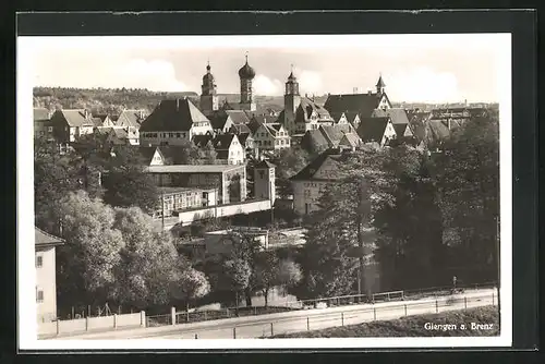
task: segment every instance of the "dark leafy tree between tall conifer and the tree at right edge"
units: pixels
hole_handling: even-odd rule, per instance
[[[375,206],[374,227],[380,239],[375,259],[388,289],[440,286],[445,282],[446,246],[432,161],[425,153],[390,149],[390,198]]]

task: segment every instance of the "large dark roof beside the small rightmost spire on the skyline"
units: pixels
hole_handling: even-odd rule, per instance
[[[324,107],[329,112],[356,112],[365,118],[371,117],[379,101],[380,95],[373,93],[329,95]]]

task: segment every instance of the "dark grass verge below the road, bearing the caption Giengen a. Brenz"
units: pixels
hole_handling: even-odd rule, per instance
[[[481,324],[473,327],[472,323]],[[497,306],[485,306],[440,314],[407,316],[399,319],[364,323],[324,330],[276,335],[272,338],[368,338],[368,337],[477,337],[499,335]],[[434,329],[426,324],[438,325]],[[492,327],[484,327],[491,325]],[[450,325],[447,329],[445,325]],[[465,328],[462,328],[462,325]]]

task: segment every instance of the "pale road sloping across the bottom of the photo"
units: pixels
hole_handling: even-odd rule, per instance
[[[301,310],[288,313],[217,319],[117,332],[97,332],[62,338],[82,339],[251,339],[278,333],[318,330],[372,320],[396,319],[409,315],[434,314],[446,311],[497,305],[495,289],[465,291],[443,298],[397,301],[376,304]],[[61,338],[59,338],[61,339]],[[56,340],[56,339],[53,339]]]

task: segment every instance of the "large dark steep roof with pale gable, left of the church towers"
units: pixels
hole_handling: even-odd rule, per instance
[[[186,132],[195,122],[209,120],[189,100],[162,100],[142,122],[141,132]]]

